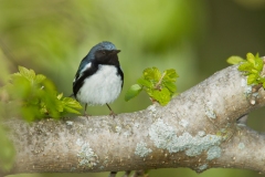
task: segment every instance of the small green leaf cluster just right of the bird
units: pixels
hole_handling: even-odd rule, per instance
[[[125,100],[131,100],[144,90],[152,102],[167,105],[177,92],[176,81],[178,76],[173,69],[166,70],[163,73],[157,67],[146,69],[141,77],[137,80],[137,84],[131,85],[127,91]]]

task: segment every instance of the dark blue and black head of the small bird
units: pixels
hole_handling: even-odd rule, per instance
[[[119,52],[120,50],[117,50],[112,42],[104,41],[93,46],[87,58],[97,64],[119,65],[117,55]]]

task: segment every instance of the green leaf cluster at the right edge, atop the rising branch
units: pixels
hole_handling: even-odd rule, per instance
[[[246,54],[246,60],[240,56],[231,56],[227,59],[230,64],[240,64],[239,71],[242,71],[247,76],[248,85],[258,85],[262,84],[265,88],[265,77],[263,74],[263,60],[258,54],[254,55],[252,53]]]

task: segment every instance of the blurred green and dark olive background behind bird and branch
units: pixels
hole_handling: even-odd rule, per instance
[[[121,50],[124,91],[112,104],[116,113],[146,108],[146,94],[124,101],[125,91],[146,67],[176,69],[178,92],[226,67],[231,55],[265,55],[264,0],[0,0],[0,84],[18,65],[55,82],[64,95],[81,60],[100,41]],[[106,106],[89,114],[108,114]],[[251,114],[248,125],[265,129],[264,110]],[[14,177],[105,177],[98,174],[15,175]],[[119,173],[118,176],[121,176]],[[151,177],[199,176],[188,168],[153,169]],[[210,169],[201,177],[259,176],[256,171]]]

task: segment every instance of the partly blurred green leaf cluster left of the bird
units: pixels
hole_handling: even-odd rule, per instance
[[[74,98],[59,94],[45,75],[35,74],[23,66],[10,75],[10,82],[1,87],[1,94],[6,95],[7,110],[26,121],[59,118],[67,113],[80,114],[78,110],[82,108]]]

